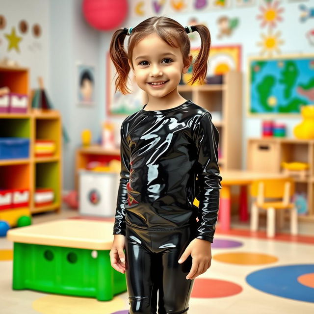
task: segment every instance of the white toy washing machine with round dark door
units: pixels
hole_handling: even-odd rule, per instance
[[[113,217],[119,183],[119,173],[79,170],[79,213]]]

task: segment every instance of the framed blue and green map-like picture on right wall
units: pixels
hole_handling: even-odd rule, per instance
[[[247,69],[248,115],[299,116],[314,103],[314,54],[249,57]]]

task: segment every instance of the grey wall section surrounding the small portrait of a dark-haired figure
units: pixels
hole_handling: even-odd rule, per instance
[[[100,131],[101,93],[104,92],[98,77],[101,76],[100,33],[90,27],[81,13],[82,0],[50,0],[50,92],[53,102],[62,112],[70,142],[63,145],[63,189],[74,188],[75,152],[81,146],[83,129],[92,132],[97,141]],[[78,105],[77,65],[95,66],[95,105]],[[104,71],[104,70],[103,70]]]

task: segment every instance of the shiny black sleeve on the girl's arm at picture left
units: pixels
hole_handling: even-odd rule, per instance
[[[130,179],[130,146],[127,142],[126,135],[124,134],[124,124],[122,123],[120,156],[121,156],[121,172],[120,184],[117,197],[117,208],[115,213],[115,222],[113,227],[113,235],[125,235],[125,216],[126,211],[124,205],[128,199],[127,183]]]

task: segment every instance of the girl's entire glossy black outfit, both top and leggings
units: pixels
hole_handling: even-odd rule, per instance
[[[193,287],[186,279],[192,258],[178,260],[192,239],[212,242],[215,232],[219,133],[210,112],[191,100],[144,108],[121,126],[113,234],[126,236],[130,314],[156,314],[157,295],[158,314],[182,314]]]

